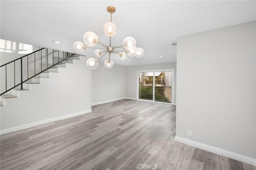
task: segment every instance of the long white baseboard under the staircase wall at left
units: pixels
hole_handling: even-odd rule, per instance
[[[30,127],[35,127],[35,126],[42,125],[42,124],[45,124],[45,123],[50,123],[50,122],[54,122],[54,121],[58,121],[58,120],[62,120],[62,119],[67,119],[67,118],[70,118],[70,117],[76,117],[76,116],[79,116],[79,115],[84,115],[84,114],[90,113],[90,112],[92,112],[92,109],[89,109],[89,110],[86,110],[86,111],[80,111],[80,112],[76,112],[76,113],[71,113],[71,114],[64,115],[64,116],[54,117],[54,118],[51,118],[51,119],[46,119],[46,120],[38,121],[38,122],[34,122],[34,123],[29,123],[29,124],[21,125],[21,126],[18,126],[18,127],[7,128],[7,129],[4,129],[4,130],[0,130],[0,135],[7,134],[7,133],[10,133],[10,132],[15,132],[15,131],[18,131],[18,130],[23,130],[23,129],[30,128]]]

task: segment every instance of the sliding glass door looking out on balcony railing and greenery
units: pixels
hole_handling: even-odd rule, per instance
[[[138,71],[138,99],[172,103],[173,71]]]

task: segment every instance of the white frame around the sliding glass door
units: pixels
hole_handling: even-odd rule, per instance
[[[139,99],[139,73],[141,72],[165,72],[165,71],[171,71],[171,79],[172,79],[172,85],[171,85],[171,88],[172,88],[172,103],[165,103],[165,102],[160,102],[160,101],[154,101],[155,99],[155,88],[153,88],[153,101],[152,100],[144,100],[144,99]],[[137,100],[141,100],[141,101],[150,101],[150,102],[155,102],[155,103],[163,103],[163,104],[168,104],[168,105],[175,105],[174,103],[174,69],[157,69],[157,70],[139,70],[137,71],[137,79],[136,79],[136,99]],[[153,76],[153,87],[155,85],[155,75]]]

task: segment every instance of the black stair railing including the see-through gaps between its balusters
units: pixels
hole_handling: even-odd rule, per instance
[[[68,63],[68,59],[70,57],[75,57],[76,55],[77,54],[74,53],[41,48],[37,51],[24,55],[23,57],[1,65],[1,81],[3,81],[2,76],[5,75],[5,89],[1,88],[0,95],[3,95],[4,93],[18,86],[20,86],[20,89],[22,90],[22,84],[24,82],[54,67],[55,65],[62,63],[62,61],[66,61]],[[39,68],[36,66],[38,66]],[[5,74],[2,74],[3,71],[5,71]],[[18,73],[19,77],[17,77],[16,74],[16,72],[18,71],[20,71]],[[10,75],[10,73],[12,75]],[[19,78],[18,83],[16,80],[17,78]],[[1,83],[1,85],[3,85],[3,83]]]

